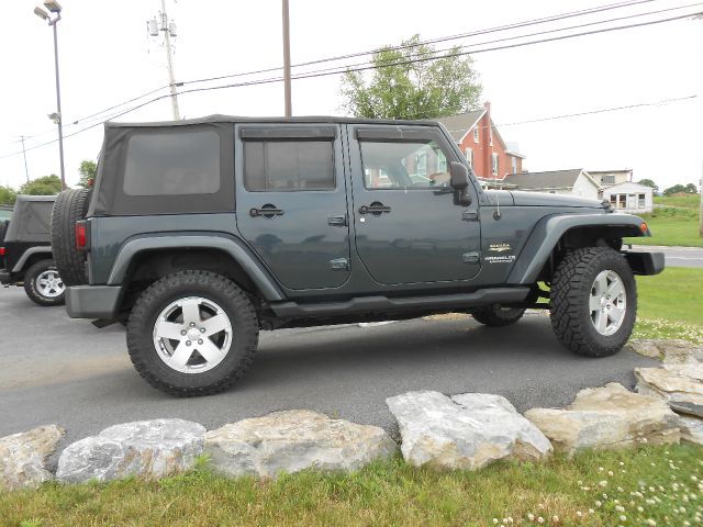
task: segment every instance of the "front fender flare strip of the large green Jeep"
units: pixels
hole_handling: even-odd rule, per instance
[[[629,214],[562,214],[543,217],[533,229],[517,257],[507,283],[535,283],[539,272],[559,239],[569,231],[581,227],[612,228],[618,236],[650,236],[641,231],[641,217]]]

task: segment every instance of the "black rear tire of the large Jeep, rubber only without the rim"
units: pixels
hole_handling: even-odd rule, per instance
[[[232,324],[225,358],[213,369],[183,373],[158,356],[153,334],[156,319],[172,302],[189,296],[209,299],[221,306]],[[199,396],[232,386],[252,366],[259,325],[248,296],[234,282],[210,271],[185,270],[168,274],[142,292],[127,321],[127,349],[136,371],[149,384],[177,396]]]

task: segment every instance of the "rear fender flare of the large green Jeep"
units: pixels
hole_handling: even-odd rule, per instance
[[[281,288],[269,270],[244,245],[243,242],[223,235],[222,233],[166,233],[136,236],[127,239],[114,260],[108,285],[121,285],[129,271],[131,262],[140,253],[158,249],[215,249],[230,255],[252,279],[254,284],[268,301],[286,300]]]

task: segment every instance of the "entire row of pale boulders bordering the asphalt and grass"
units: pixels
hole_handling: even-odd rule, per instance
[[[638,352],[665,359],[661,368],[635,370],[638,393],[617,383],[589,388],[566,408],[533,408],[522,416],[506,399],[484,393],[448,397],[417,391],[389,397],[403,458],[415,467],[477,470],[501,459],[539,461],[553,449],[572,455],[680,439],[703,445],[699,351],[679,341],[636,346]],[[0,491],[37,487],[53,479],[45,462],[63,434],[57,425],[46,425],[0,438]],[[163,478],[192,470],[203,453],[216,472],[270,479],[305,469],[355,471],[395,449],[382,428],[306,410],[210,431],[182,419],[141,421],[69,445],[58,459],[56,479]]]

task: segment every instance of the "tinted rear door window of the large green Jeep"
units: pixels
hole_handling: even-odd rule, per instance
[[[334,190],[331,141],[245,141],[244,187],[250,192]]]

